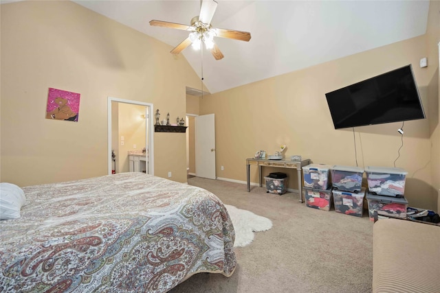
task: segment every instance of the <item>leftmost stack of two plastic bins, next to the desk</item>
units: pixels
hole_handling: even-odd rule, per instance
[[[310,164],[303,167],[303,195],[307,207],[330,211],[331,185],[329,186],[330,165]]]

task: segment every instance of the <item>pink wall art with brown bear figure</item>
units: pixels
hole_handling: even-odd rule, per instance
[[[80,110],[80,94],[61,89],[49,88],[47,96],[46,118],[78,121]]]

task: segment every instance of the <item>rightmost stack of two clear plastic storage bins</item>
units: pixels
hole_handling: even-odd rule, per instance
[[[369,185],[366,200],[370,220],[374,220],[374,211],[386,217],[406,218],[408,201],[404,191],[408,172],[392,167],[366,167],[365,172]]]

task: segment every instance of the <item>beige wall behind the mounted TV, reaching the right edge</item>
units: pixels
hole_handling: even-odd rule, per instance
[[[438,3],[431,12],[435,19],[429,25],[439,25]],[[438,42],[438,29],[431,37]],[[439,148],[432,145],[439,145],[439,98],[438,90],[429,89],[438,89],[439,65],[419,67],[420,58],[437,50],[427,38],[419,36],[205,97],[200,114],[216,117],[217,176],[244,182],[245,159],[256,150],[273,154],[281,144],[287,145],[287,158],[300,154],[314,163],[393,167],[401,145],[397,132],[401,122],[355,128],[355,150],[353,130],[333,128],[325,93],[411,64],[428,119],[405,122],[404,147],[395,166],[408,171],[405,196],[410,205],[437,210],[439,177],[434,170],[439,169]],[[434,54],[430,58],[438,60]],[[287,173],[296,178],[295,171]],[[252,167],[251,181],[258,182],[258,170]],[[298,188],[296,180],[289,180],[289,188]]]

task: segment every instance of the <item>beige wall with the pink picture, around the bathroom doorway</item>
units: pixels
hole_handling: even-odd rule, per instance
[[[17,185],[107,174],[107,97],[186,114],[199,78],[165,45],[70,1],[1,5],[0,180]],[[48,88],[81,94],[78,122],[45,119]],[[154,110],[155,110],[154,109]],[[155,175],[186,182],[186,139],[155,133]]]

